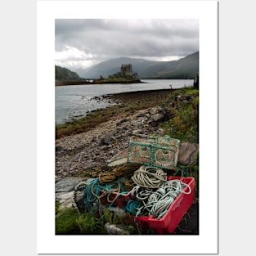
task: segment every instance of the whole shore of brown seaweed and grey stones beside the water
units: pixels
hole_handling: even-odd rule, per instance
[[[106,169],[108,159],[128,148],[132,134],[163,136],[166,131],[161,124],[173,117],[172,108],[187,105],[187,101],[192,104],[196,97],[182,95],[182,91],[172,96],[172,92],[161,89],[108,95],[120,105],[56,128],[56,177],[97,175]]]

